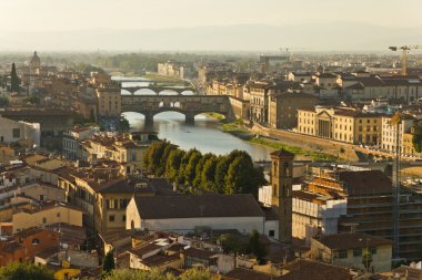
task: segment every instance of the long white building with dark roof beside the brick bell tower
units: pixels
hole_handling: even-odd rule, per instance
[[[190,195],[133,197],[127,208],[127,229],[165,230],[180,234],[197,228],[274,232],[274,222],[252,195]],[[270,228],[271,227],[271,228]]]

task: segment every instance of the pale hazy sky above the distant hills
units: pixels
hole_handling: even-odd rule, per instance
[[[0,0],[0,31],[351,21],[422,25],[422,0]]]

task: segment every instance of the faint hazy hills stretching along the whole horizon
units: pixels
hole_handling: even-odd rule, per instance
[[[422,28],[383,28],[353,22],[291,27],[228,25],[145,30],[0,33],[0,50],[260,51],[297,46],[309,51],[386,50],[422,44]]]

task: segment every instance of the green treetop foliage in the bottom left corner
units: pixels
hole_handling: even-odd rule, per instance
[[[12,263],[0,268],[0,280],[53,280],[53,272],[36,265]]]

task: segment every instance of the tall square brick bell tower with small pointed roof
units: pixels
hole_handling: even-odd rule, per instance
[[[292,240],[292,178],[294,154],[284,149],[271,153],[271,205],[279,215],[279,240]]]

